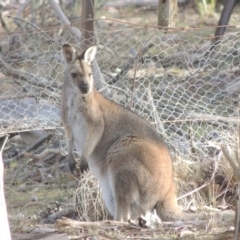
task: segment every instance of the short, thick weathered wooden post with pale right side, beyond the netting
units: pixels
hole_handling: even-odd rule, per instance
[[[159,0],[158,5],[158,26],[175,28],[177,20],[177,0]],[[168,32],[168,30],[166,30]]]

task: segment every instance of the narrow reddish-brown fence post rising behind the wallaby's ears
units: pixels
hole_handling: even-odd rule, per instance
[[[85,49],[94,43],[94,0],[82,0],[82,43]]]

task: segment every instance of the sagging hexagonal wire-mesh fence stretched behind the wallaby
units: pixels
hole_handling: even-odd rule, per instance
[[[150,121],[178,156],[218,158],[216,143],[236,149],[240,32],[209,53],[214,28],[165,34],[108,23],[96,21],[99,91]],[[69,28],[1,35],[0,135],[61,127],[60,49],[80,44]]]

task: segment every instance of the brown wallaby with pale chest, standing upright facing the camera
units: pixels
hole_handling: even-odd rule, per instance
[[[96,46],[78,53],[64,44],[67,63],[62,91],[62,121],[69,166],[90,168],[114,220],[136,219],[156,209],[162,220],[181,218],[169,150],[150,123],[94,89],[91,62]]]

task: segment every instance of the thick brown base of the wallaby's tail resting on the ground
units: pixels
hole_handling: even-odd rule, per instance
[[[165,195],[165,198],[157,202],[156,211],[163,221],[179,220],[183,218],[182,211],[177,204],[174,184]]]

